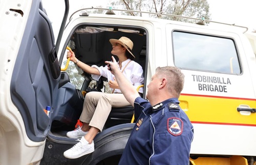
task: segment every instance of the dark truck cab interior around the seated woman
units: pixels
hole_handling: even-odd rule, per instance
[[[67,41],[72,51],[75,52],[76,58],[90,66],[105,66],[105,61],[110,61],[112,45],[110,39],[119,39],[125,36],[130,38],[134,47],[132,52],[135,56],[134,61],[139,63],[146,77],[146,61],[147,61],[147,36],[146,31],[136,27],[119,27],[119,26],[96,26],[96,25],[80,25],[70,35]],[[117,57],[114,56],[118,61]],[[66,58],[66,53],[63,59]],[[69,62],[72,65],[73,62]],[[73,64],[74,65],[74,64]],[[66,137],[66,132],[77,127],[77,121],[82,112],[84,97],[90,91],[109,92],[108,80],[101,77],[95,81],[91,74],[76,68],[70,71],[61,72],[59,81],[59,92],[57,97],[57,107],[52,114],[51,133],[54,135]],[[70,66],[68,68],[71,68]],[[84,79],[81,87],[76,87],[71,79],[71,72],[77,72]],[[81,80],[80,80],[81,81]],[[145,91],[145,90],[144,90]],[[141,95],[145,97],[145,92]],[[104,129],[123,123],[131,123],[133,118],[133,107],[125,106],[120,108],[112,108]],[[134,120],[136,122],[136,119]]]

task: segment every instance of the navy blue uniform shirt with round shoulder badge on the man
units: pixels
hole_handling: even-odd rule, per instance
[[[137,123],[127,141],[120,165],[189,164],[194,128],[178,105],[170,98],[155,106],[141,97],[134,102]]]

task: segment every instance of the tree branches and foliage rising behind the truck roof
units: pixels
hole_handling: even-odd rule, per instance
[[[209,4],[207,0],[114,0],[113,8],[122,8],[134,11],[147,11],[159,14],[148,14],[150,17],[185,21],[186,18],[170,17],[162,14],[180,15],[183,17],[210,19]],[[138,15],[137,12],[123,12],[125,15]],[[192,20],[186,20],[193,22]]]

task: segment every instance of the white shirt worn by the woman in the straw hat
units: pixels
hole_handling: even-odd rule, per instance
[[[129,63],[129,61],[131,62]],[[127,63],[129,64],[126,66]],[[92,65],[92,67],[97,68],[100,73],[100,75],[92,74],[93,79],[99,80],[100,76],[103,76],[108,78],[108,81],[110,80],[114,81],[115,76],[114,74],[111,73],[111,71],[108,70],[108,66],[98,67],[97,65]],[[118,68],[120,69],[119,65],[118,65]],[[122,72],[124,77],[127,80],[129,80],[136,89],[138,86],[144,84],[143,69],[138,63],[136,63],[135,61],[132,61],[131,59],[127,59],[124,62],[122,62],[122,68],[124,68],[124,71]],[[139,92],[143,93],[143,88],[140,88]],[[121,91],[119,89],[115,89],[114,93],[121,93]]]

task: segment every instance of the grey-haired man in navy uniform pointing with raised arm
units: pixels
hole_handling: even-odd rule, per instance
[[[147,86],[147,101],[125,79],[113,57],[112,60],[105,63],[127,101],[134,106],[137,119],[119,164],[189,164],[194,128],[179,106],[184,85],[181,70],[158,67]]]

